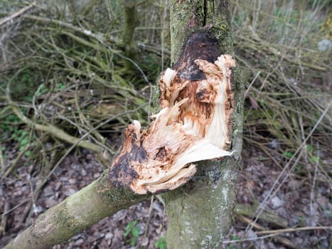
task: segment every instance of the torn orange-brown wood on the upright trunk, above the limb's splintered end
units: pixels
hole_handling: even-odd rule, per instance
[[[188,98],[181,106],[179,120],[190,124],[198,137],[205,137],[221,149],[230,144],[230,115],[234,108],[232,67],[235,60],[230,55],[220,55],[215,63],[195,60],[205,74],[203,80],[186,80],[167,69],[161,76],[161,107],[171,107]]]

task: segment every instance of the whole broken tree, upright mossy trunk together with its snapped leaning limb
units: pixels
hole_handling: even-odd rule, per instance
[[[165,196],[168,248],[218,248],[235,203],[243,87],[232,69],[227,1],[200,2],[171,4],[172,43],[177,44],[172,58],[178,62],[161,75],[162,110],[149,129],[130,124],[109,171],[43,213],[6,248],[49,248],[146,194],[191,179]]]

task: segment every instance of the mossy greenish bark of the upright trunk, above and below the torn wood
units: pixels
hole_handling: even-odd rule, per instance
[[[209,31],[218,40],[220,54],[232,55],[232,36],[228,1],[171,1],[171,60],[178,60],[188,36]],[[204,53],[204,50],[202,50]],[[220,55],[219,54],[219,55]],[[216,55],[218,57],[219,55]],[[235,68],[232,114],[234,157],[222,161],[203,161],[198,173],[186,186],[164,194],[168,229],[168,248],[218,248],[232,223],[235,206],[235,179],[242,148],[244,86]]]

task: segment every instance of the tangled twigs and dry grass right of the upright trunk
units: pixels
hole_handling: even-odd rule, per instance
[[[318,42],[331,39],[330,30],[323,29],[331,3],[308,1],[301,9],[296,1],[253,3],[235,1],[232,17],[235,54],[247,82],[245,144],[259,147],[276,163],[299,147],[305,151],[317,144],[328,157],[331,51],[319,51]],[[312,152],[306,150],[299,164],[308,157],[312,161]],[[328,170],[327,164],[321,166]]]

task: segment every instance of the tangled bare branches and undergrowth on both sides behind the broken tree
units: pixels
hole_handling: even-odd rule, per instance
[[[36,196],[77,145],[108,166],[128,122],[149,124],[156,78],[170,62],[168,1],[136,4],[134,45],[122,40],[121,1],[65,2],[0,1],[0,18],[28,6],[0,20],[0,173],[15,178],[18,162],[30,161],[41,178]],[[332,1],[231,3],[247,87],[245,149],[285,173],[257,217],[289,176],[312,180],[319,171],[319,181],[331,182],[331,45],[318,43],[331,44]],[[13,149],[16,158],[7,160]],[[135,225],[126,231],[131,244]],[[161,238],[156,248],[165,247]]]

